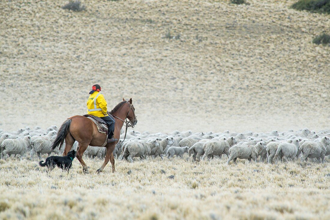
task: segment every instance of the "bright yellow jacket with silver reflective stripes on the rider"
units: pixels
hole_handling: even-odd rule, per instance
[[[101,93],[95,91],[90,94],[87,99],[87,112],[97,117],[108,116],[107,101]]]

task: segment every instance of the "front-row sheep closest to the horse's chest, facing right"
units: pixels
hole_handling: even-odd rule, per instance
[[[143,158],[149,155],[152,148],[159,146],[156,140],[150,142],[129,141],[125,144],[122,157],[126,160],[133,161],[133,157]]]

